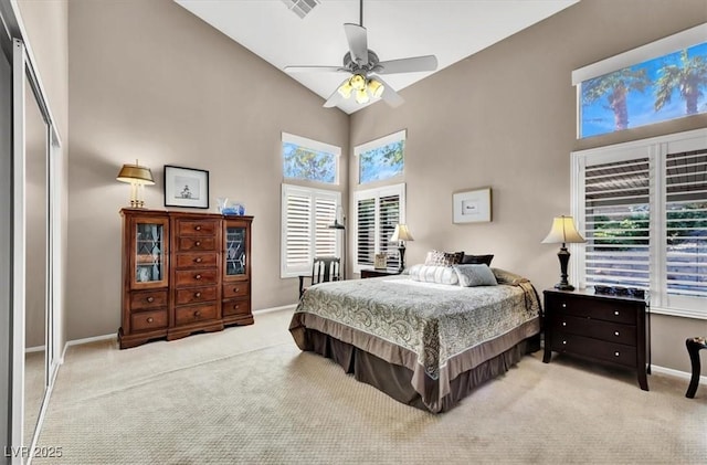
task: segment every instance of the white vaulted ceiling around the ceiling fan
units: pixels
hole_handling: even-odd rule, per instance
[[[320,0],[304,19],[282,0],[175,1],[279,70],[341,65],[348,51],[344,23],[359,23],[359,0]],[[578,1],[368,0],[363,27],[369,49],[381,61],[436,55],[440,71]],[[400,91],[430,74],[386,75],[386,82]],[[341,73],[291,76],[321,96],[323,104],[346,77]],[[362,107],[352,98],[339,105],[348,114]]]

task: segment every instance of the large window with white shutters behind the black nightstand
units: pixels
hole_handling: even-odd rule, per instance
[[[707,129],[573,154],[580,284],[650,290],[707,318]]]

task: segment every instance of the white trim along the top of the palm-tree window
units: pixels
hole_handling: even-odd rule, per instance
[[[572,71],[572,85],[705,42],[707,23]]]

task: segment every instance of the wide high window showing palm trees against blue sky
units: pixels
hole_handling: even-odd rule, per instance
[[[707,113],[707,25],[572,73],[579,137]]]

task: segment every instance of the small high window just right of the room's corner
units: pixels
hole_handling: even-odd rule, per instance
[[[405,130],[357,146],[358,181],[363,184],[400,177],[405,167]]]

